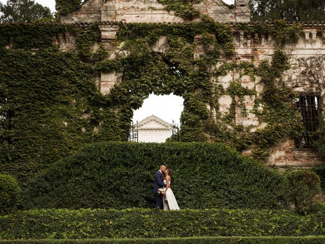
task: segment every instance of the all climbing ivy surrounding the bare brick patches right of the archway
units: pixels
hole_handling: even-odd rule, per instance
[[[246,28],[247,27],[247,28]],[[253,27],[242,25],[240,28],[249,33],[251,31],[264,32],[264,28],[254,25]],[[248,29],[249,28],[249,29]],[[269,27],[268,27],[269,28]],[[281,29],[277,27],[277,29]],[[271,32],[270,30],[268,32]],[[239,80],[230,81],[230,86],[223,89],[217,86],[215,89],[214,105],[218,104],[221,95],[232,97],[229,112],[225,115],[217,114],[219,124],[212,124],[211,134],[214,134],[215,141],[227,141],[239,150],[254,146],[252,157],[255,160],[264,161],[270,156],[270,147],[285,136],[296,137],[303,130],[300,114],[293,109],[293,101],[296,94],[291,88],[285,85],[282,80],[282,73],[290,68],[288,55],[282,48],[276,48],[272,56],[272,62],[262,60],[258,67],[253,63],[223,63],[214,71],[214,76],[225,76],[235,70],[240,76],[248,75],[255,83],[255,77],[261,77],[259,83],[263,84],[261,97],[255,97],[256,88],[248,89],[243,87]],[[241,115],[248,116],[244,96],[254,99],[254,108],[251,110],[259,122],[268,123],[263,129],[250,132],[252,127],[238,126],[235,123],[236,108],[241,108]],[[218,106],[218,105],[217,105]],[[218,107],[217,107],[218,108]],[[263,109],[262,109],[263,108]],[[229,129],[228,125],[233,129]]]

